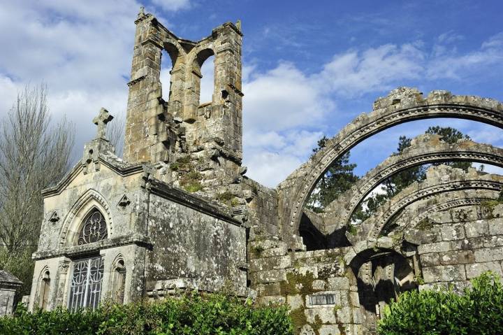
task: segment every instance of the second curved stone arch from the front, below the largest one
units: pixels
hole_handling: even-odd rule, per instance
[[[438,135],[421,135],[400,155],[388,157],[363,178],[330,203],[323,214],[326,233],[350,223],[357,206],[375,187],[395,173],[413,166],[446,161],[470,161],[503,167],[503,149],[473,141],[446,143]]]

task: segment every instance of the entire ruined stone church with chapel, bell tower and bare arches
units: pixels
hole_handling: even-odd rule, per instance
[[[271,189],[242,166],[240,22],[201,41],[175,36],[143,10],[135,24],[124,158],[105,136],[113,117],[102,109],[80,162],[43,191],[30,308],[226,287],[289,304],[300,334],[374,334],[382,308],[401,292],[460,290],[483,271],[502,273],[503,176],[432,166],[372,218],[352,220],[394,173],[446,161],[503,166],[501,148],[418,136],[322,213],[306,208],[330,164],[365,138],[432,117],[503,128],[502,103],[400,87]],[[173,64],[169,87],[159,80],[163,51]],[[201,66],[210,56],[214,90],[203,104]]]

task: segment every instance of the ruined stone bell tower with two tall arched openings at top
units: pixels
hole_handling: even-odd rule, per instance
[[[169,163],[184,152],[218,148],[220,156],[240,166],[240,23],[224,23],[197,42],[178,38],[143,8],[135,23],[124,159],[130,163]],[[159,80],[163,50],[173,63],[170,87],[162,87]],[[201,66],[212,55],[212,101],[201,104]],[[163,89],[169,90],[168,101],[162,99]]]

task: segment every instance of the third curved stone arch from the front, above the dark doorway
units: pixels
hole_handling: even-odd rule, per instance
[[[493,190],[502,192],[503,176],[479,174],[476,171],[462,173],[460,169],[438,166],[428,169],[428,178],[423,183],[414,183],[383,204],[372,218],[359,225],[356,235],[346,233],[353,245],[367,241],[375,245],[381,230],[390,220],[409,204],[421,199],[430,199],[437,194],[460,190]]]

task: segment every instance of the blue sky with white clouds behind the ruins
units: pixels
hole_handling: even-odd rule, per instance
[[[323,134],[333,136],[395,87],[503,101],[502,1],[0,0],[0,116],[24,85],[44,81],[54,117],[78,125],[77,157],[99,108],[125,111],[140,5],[193,40],[242,20],[244,164],[268,186],[305,162]],[[211,83],[207,64],[203,74]],[[354,148],[357,172],[388,157],[398,136],[436,124],[503,147],[503,131],[488,125],[411,122]]]

